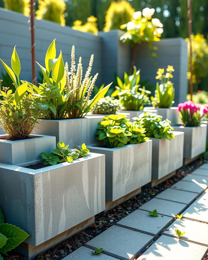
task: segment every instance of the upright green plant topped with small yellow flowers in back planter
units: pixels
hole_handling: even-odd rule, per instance
[[[156,79],[160,80],[160,84],[157,82],[155,96],[151,97],[153,107],[171,107],[174,104],[175,89],[170,78],[173,78],[172,72],[173,66],[168,65],[166,68],[166,74],[164,75],[164,68],[159,68],[157,71]]]

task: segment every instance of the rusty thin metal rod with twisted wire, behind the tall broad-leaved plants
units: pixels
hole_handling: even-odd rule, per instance
[[[35,10],[34,0],[30,0],[30,33],[31,33],[31,56],[32,56],[32,83],[36,85],[36,53],[35,53]]]

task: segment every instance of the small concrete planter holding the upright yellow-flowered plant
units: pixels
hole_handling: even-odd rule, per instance
[[[163,117],[163,120],[166,118],[171,121],[172,125],[179,124],[180,113],[178,107],[169,107],[169,108],[154,108],[154,107],[144,107],[144,111],[157,110],[154,112]]]

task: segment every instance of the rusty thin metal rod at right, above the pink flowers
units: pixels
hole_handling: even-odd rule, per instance
[[[189,65],[189,70],[190,70],[190,80],[189,80],[189,92],[190,92],[190,99],[192,100],[192,95],[193,95],[193,82],[192,82],[192,77],[193,77],[193,68],[192,68],[192,7],[191,7],[191,0],[187,1],[187,7],[188,7],[188,34],[189,34],[189,56],[190,56],[190,65]]]

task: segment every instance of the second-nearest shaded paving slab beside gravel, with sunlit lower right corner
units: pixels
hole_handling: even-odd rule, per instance
[[[113,225],[86,244],[96,248],[103,248],[113,257],[130,259],[152,240],[153,236],[151,235]]]

